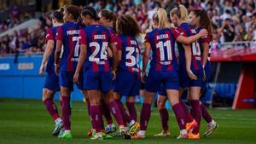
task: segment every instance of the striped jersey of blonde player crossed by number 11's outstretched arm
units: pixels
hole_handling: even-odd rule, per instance
[[[188,23],[182,23],[180,26],[177,27],[177,31],[180,32],[181,35],[184,37],[190,37],[196,34],[195,28]],[[201,50],[199,47],[199,43],[195,41],[194,43],[190,44],[191,47],[191,70],[200,70],[201,66]],[[186,60],[185,60],[185,51],[183,48],[182,43],[177,43],[178,48],[178,55],[179,55],[179,64],[186,68]]]

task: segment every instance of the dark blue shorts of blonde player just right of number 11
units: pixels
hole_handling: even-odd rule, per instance
[[[201,87],[203,71],[195,71],[194,74],[198,78],[197,80],[189,78],[189,75],[186,70],[180,70],[180,72],[178,73],[180,87],[182,87],[183,89],[188,87]]]

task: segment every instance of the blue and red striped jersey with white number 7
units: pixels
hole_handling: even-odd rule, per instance
[[[78,22],[67,22],[57,28],[56,40],[61,40],[61,72],[75,71],[79,60],[79,30],[83,26]]]

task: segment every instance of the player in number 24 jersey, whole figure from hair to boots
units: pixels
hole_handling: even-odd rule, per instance
[[[92,125],[96,130],[96,135],[92,140],[102,140],[102,112],[100,109],[100,94],[105,93],[108,96],[109,108],[119,124],[119,131],[125,134],[125,127],[119,105],[113,99],[112,81],[115,78],[115,59],[116,46],[108,28],[99,25],[96,10],[92,7],[86,7],[82,12],[82,18],[86,27],[80,31],[79,44],[81,53],[79,55],[79,64],[77,66],[73,81],[79,82],[79,72],[84,64],[84,87],[88,90],[90,99],[90,116]],[[113,50],[113,69],[109,66],[107,56],[108,46]]]

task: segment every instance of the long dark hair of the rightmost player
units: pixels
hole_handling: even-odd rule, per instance
[[[212,38],[212,20],[209,18],[209,15],[207,14],[207,11],[204,9],[196,9],[193,10],[193,14],[195,14],[196,17],[199,17],[199,24],[202,28],[206,29],[209,33],[210,37]]]

